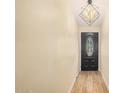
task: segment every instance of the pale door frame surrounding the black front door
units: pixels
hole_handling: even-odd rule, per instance
[[[81,71],[81,33],[85,32],[96,32],[98,33],[98,71],[100,71],[101,68],[101,34],[99,31],[82,31],[79,34],[79,69]]]

